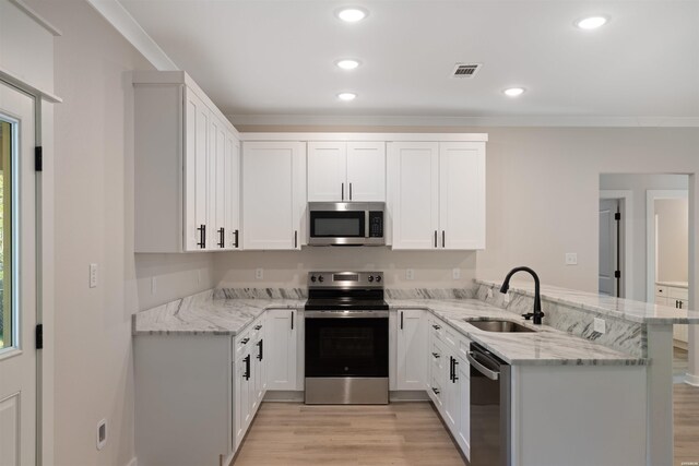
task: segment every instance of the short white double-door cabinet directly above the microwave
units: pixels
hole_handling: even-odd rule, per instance
[[[308,201],[386,201],[386,143],[309,142]]]

